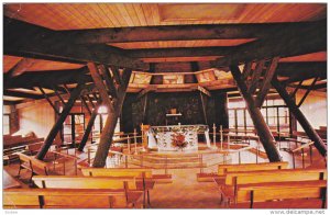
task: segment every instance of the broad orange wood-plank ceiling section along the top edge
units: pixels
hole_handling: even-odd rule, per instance
[[[3,13],[7,16],[53,30],[77,30],[173,24],[314,21],[326,18],[327,4],[7,3]]]

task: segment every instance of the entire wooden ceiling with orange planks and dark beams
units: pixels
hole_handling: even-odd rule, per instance
[[[24,79],[91,81],[88,61],[133,68],[129,92],[233,88],[226,67],[260,57],[282,57],[282,80],[327,72],[326,3],[6,3],[3,14],[8,95],[40,95],[18,89],[33,89]]]

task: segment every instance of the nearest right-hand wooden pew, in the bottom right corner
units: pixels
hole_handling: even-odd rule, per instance
[[[327,181],[293,181],[238,186],[234,208],[326,208]]]

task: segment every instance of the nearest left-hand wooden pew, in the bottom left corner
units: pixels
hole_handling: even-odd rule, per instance
[[[4,208],[127,208],[136,206],[141,193],[108,189],[6,189]]]

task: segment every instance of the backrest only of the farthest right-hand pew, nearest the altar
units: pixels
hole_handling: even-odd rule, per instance
[[[226,176],[229,172],[256,171],[256,170],[276,170],[287,169],[288,162],[261,162],[261,163],[241,163],[241,165],[219,165],[218,174]]]

